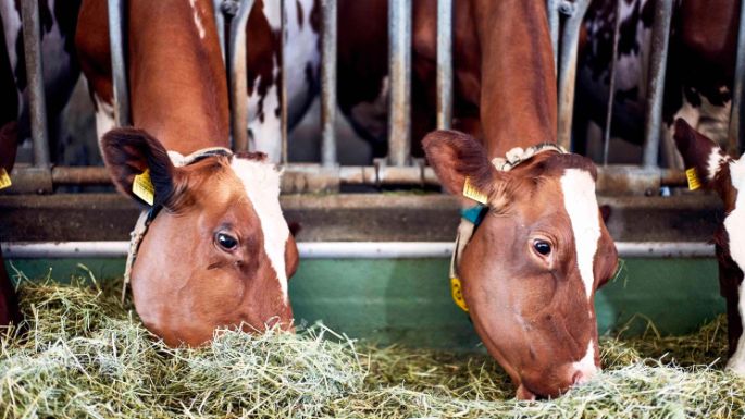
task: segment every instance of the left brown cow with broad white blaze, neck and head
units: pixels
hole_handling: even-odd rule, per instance
[[[135,127],[109,131],[101,148],[120,192],[142,204],[133,183],[146,170],[154,187],[158,212],[132,269],[137,312],[169,345],[202,344],[220,326],[290,328],[287,279],[298,256],[280,172],[264,155],[224,149],[227,87],[213,2],[127,5]],[[76,45],[101,110],[112,98],[105,0],[84,0]]]

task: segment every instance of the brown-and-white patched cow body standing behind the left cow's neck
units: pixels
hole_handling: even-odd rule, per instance
[[[189,2],[195,8],[193,1]],[[305,115],[319,89],[319,0],[288,1],[287,20],[287,112],[289,128]],[[203,34],[202,21],[199,34]],[[200,17],[204,19],[204,16]],[[250,149],[263,152],[269,161],[280,162],[282,143],[280,138],[280,95],[282,45],[281,2],[257,0],[246,25],[246,73],[248,96],[248,135]],[[108,26],[107,26],[108,27]],[[202,36],[202,35],[200,35]],[[100,40],[98,48],[103,48]],[[85,65],[85,63],[84,63]],[[99,138],[114,126],[114,114],[110,97],[100,97],[95,89],[96,131]]]

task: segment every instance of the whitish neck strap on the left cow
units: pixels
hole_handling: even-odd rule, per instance
[[[233,151],[225,147],[202,148],[188,156],[184,156],[178,151],[169,151],[169,158],[176,168],[189,165],[199,160],[213,156],[233,157]],[[161,209],[161,205],[156,205],[150,209],[140,212],[137,223],[135,223],[135,229],[132,231],[132,233],[129,233],[129,249],[127,250],[127,261],[124,266],[124,284],[122,285],[122,304],[124,304],[124,297],[127,293],[127,285],[132,280],[132,267],[135,264],[135,260],[137,259],[139,245],[142,243],[150,223],[152,223],[152,220],[156,219],[156,215],[158,215]]]

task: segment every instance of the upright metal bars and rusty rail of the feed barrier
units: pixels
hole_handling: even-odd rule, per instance
[[[283,192],[306,193],[331,190],[338,192],[342,185],[438,185],[433,170],[421,159],[410,155],[410,90],[411,90],[411,2],[412,0],[388,0],[389,5],[389,112],[388,112],[388,157],[380,159],[373,165],[342,167],[337,160],[336,135],[336,14],[337,0],[321,0],[321,161],[318,164],[297,164],[287,161],[287,93],[282,60],[281,74],[281,135],[282,162],[285,168]],[[618,0],[618,10],[620,3]],[[681,171],[660,169],[657,157],[660,147],[660,124],[662,90],[667,61],[672,0],[655,1],[655,24],[653,28],[653,59],[649,67],[648,102],[644,137],[643,161],[640,165],[608,165],[598,169],[598,189],[609,194],[629,194],[635,192],[657,192],[661,186],[685,185],[685,175]],[[117,125],[131,122],[129,100],[126,86],[125,39],[123,16],[125,0],[108,0],[109,27],[111,30],[111,58],[114,87],[114,115]],[[580,28],[591,0],[547,0],[548,22],[555,50],[558,72],[558,141],[571,149],[571,122],[574,102],[574,85],[578,60],[578,41]],[[223,58],[227,67],[231,103],[231,133],[233,148],[237,151],[250,148],[247,133],[248,98],[246,95],[246,24],[253,5],[253,0],[213,0],[215,22],[221,38]],[[282,4],[282,45],[287,41],[285,0]],[[32,138],[34,149],[33,167],[18,167],[12,174],[14,187],[12,193],[51,193],[60,185],[104,185],[111,184],[104,168],[53,167],[49,161],[49,149],[46,134],[45,95],[42,90],[42,72],[40,57],[40,37],[38,24],[38,4],[33,0],[23,1],[23,36],[25,60],[29,79],[29,101],[32,115]],[[620,16],[620,13],[617,13]],[[745,16],[745,3],[741,8]],[[226,20],[231,27],[228,39],[224,39]],[[452,118],[452,0],[437,1],[437,127],[448,128]],[[616,23],[613,37],[613,58],[617,57],[619,22]],[[283,53],[286,48],[282,48]],[[614,63],[616,60],[613,60]],[[613,74],[611,69],[611,95],[608,100],[608,116],[612,112]],[[745,30],[741,30],[737,44],[736,72],[733,89],[732,118],[729,132],[729,148],[738,151],[743,148],[741,103],[743,78],[745,78]],[[610,118],[604,127],[604,161],[608,159],[608,140],[610,137]],[[70,246],[79,247],[76,242]],[[710,245],[698,244],[695,247],[687,243],[637,243],[620,244],[622,252],[629,255],[675,255],[710,256]],[[624,247],[625,246],[625,247]],[[644,251],[638,251],[643,246]],[[646,246],[646,247],[644,247]],[[694,247],[691,247],[694,246]],[[115,252],[121,249],[114,247]],[[628,250],[624,250],[628,248]],[[637,250],[630,250],[630,249]],[[21,256],[23,247],[5,246],[11,255]],[[301,249],[303,247],[301,246]],[[380,249],[378,249],[380,250]],[[380,251],[377,254],[380,254]],[[60,250],[62,252],[66,250]],[[114,250],[112,250],[114,251]],[[306,256],[320,255],[315,250],[302,250]],[[315,251],[315,252],[314,252]],[[440,256],[444,250],[432,250]],[[37,255],[50,256],[48,249]],[[387,252],[383,252],[387,255]]]

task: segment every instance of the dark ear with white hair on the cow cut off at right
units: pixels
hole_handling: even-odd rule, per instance
[[[682,119],[675,120],[675,146],[683,157],[685,169],[695,169],[704,186],[711,186],[729,159],[717,144],[699,134]]]

